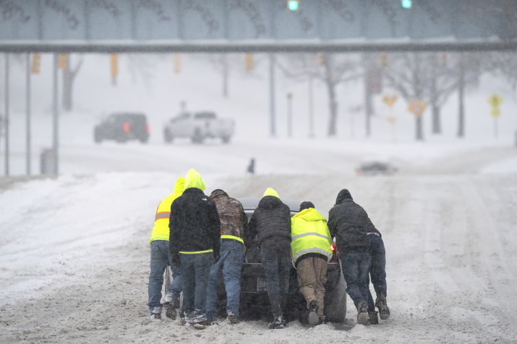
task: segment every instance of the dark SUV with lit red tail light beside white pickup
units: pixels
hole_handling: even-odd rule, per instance
[[[140,140],[146,143],[149,139],[150,127],[145,114],[117,113],[95,126],[93,138],[96,143],[102,140],[116,140],[124,143],[126,140]]]

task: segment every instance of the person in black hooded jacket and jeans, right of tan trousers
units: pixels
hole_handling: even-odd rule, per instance
[[[339,192],[336,205],[329,211],[328,228],[340,252],[347,293],[357,308],[357,323],[368,321],[368,285],[370,238],[368,214],[356,204],[347,189]]]

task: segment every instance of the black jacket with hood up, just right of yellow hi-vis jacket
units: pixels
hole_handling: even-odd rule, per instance
[[[336,237],[339,254],[370,252],[368,232],[378,232],[367,212],[354,200],[347,189],[339,192],[336,205],[328,213],[330,235]]]

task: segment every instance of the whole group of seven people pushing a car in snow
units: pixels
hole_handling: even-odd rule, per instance
[[[380,319],[388,319],[382,236],[347,189],[338,193],[327,221],[310,201],[301,203],[299,212],[291,217],[290,208],[268,188],[248,221],[240,201],[220,189],[207,196],[205,187],[199,173],[191,169],[176,181],[174,193],[158,206],[150,238],[150,319],[161,319],[162,307],[167,317],[176,319],[183,291],[183,325],[202,330],[216,324],[216,289],[221,271],[228,319],[239,323],[240,273],[245,247],[255,237],[273,313],[269,328],[286,325],[283,314],[291,265],[297,269],[299,291],[307,302],[307,322],[325,322],[323,285],[334,237],[347,293],[358,312],[357,323],[378,324],[376,307]],[[168,265],[173,279],[162,305],[163,273]],[[369,291],[370,277],[376,302]]]

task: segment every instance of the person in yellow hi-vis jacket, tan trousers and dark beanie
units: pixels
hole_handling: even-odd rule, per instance
[[[327,262],[332,258],[332,237],[327,219],[312,202],[303,202],[300,211],[291,218],[292,265],[297,269],[300,293],[309,310],[308,323],[325,321],[323,300],[327,282]]]

